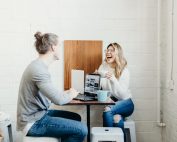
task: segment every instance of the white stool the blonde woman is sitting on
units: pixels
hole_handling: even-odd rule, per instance
[[[127,119],[124,122],[124,128],[128,128],[130,130],[131,142],[136,142],[135,122],[133,120]]]

